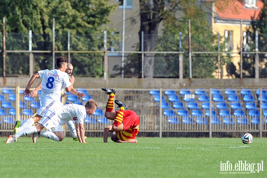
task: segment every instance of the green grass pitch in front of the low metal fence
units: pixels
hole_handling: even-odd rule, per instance
[[[3,178],[267,177],[267,138],[254,138],[252,144],[243,144],[241,138],[141,137],[138,144],[114,143],[110,138],[109,143],[88,138],[88,144],[80,144],[69,137],[62,142],[41,137],[36,144],[31,137],[20,137],[5,144],[6,139],[0,138]],[[246,161],[250,170],[253,163],[254,171],[257,163],[262,168],[255,173],[221,171],[221,163],[227,161],[232,169],[239,161]]]

